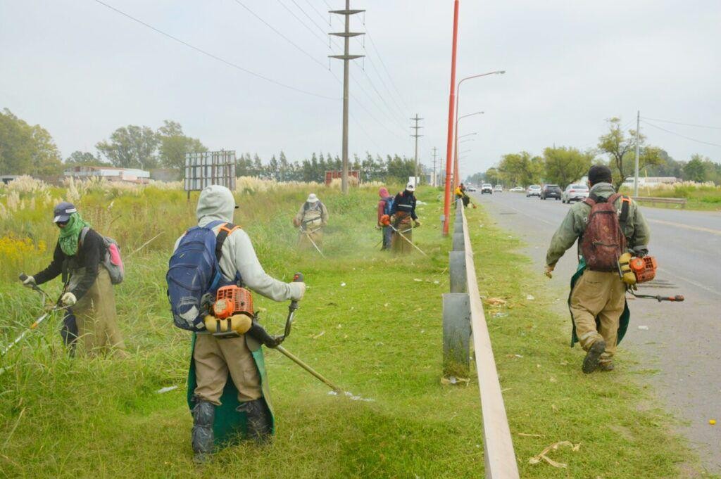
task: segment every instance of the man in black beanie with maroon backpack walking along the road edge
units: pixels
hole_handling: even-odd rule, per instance
[[[571,207],[554,234],[545,273],[552,276],[557,261],[578,240],[578,271],[571,279],[568,300],[573,323],[571,346],[586,351],[582,370],[614,369],[613,357],[629,321],[627,285],[619,277],[618,260],[627,250],[648,253],[650,231],[639,207],[616,193],[608,166],[591,166],[588,199]]]

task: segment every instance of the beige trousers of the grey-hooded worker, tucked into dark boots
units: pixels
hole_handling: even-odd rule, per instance
[[[228,373],[238,390],[238,400],[247,402],[262,398],[260,375],[245,336],[216,339],[212,334],[195,338],[195,395],[216,406],[221,404]]]

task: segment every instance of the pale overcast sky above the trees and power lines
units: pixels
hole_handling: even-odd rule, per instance
[[[340,153],[342,53],[328,47],[328,5],[342,0],[103,0],[224,61],[191,50],[95,0],[0,0],[0,107],[45,127],[63,157],[91,151],[115,128],[180,122],[211,149],[281,149],[291,160]],[[282,32],[280,37],[243,6]],[[446,156],[452,0],[353,0],[369,38],[350,67],[350,153],[413,155],[410,117],[423,117],[419,156]],[[292,13],[291,13],[292,12]],[[461,0],[457,79],[464,176],[503,153],[595,146],[609,117],[642,117],[721,145],[721,1]],[[363,21],[365,20],[365,24]],[[377,48],[373,48],[373,45]],[[303,50],[303,51],[301,51]],[[365,71],[363,71],[363,67]],[[330,71],[329,71],[330,68]],[[387,70],[387,73],[386,73]],[[388,74],[389,73],[389,74]],[[335,76],[334,76],[335,74]],[[327,97],[327,98],[324,98]],[[648,120],[652,122],[652,120]],[[677,160],[721,147],[642,123]]]

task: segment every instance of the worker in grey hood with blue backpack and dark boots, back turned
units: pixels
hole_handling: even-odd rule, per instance
[[[178,238],[169,263],[169,298],[174,315],[176,310],[181,310],[178,309],[179,305],[173,304],[172,297],[178,296],[174,292],[184,287],[182,283],[187,282],[187,277],[191,277],[191,281],[189,287],[182,290],[186,292],[180,295],[179,303],[193,300],[193,297],[182,297],[187,296],[187,291],[192,291],[191,287],[195,287],[196,283],[193,275],[185,272],[190,271],[187,269],[190,263],[195,264],[194,257],[201,257],[197,256],[197,251],[198,244],[203,241],[198,241],[195,235],[203,228],[205,231],[201,234],[212,234],[215,237],[212,254],[220,269],[217,282],[213,282],[216,290],[227,285],[242,285],[275,301],[301,300],[303,297],[306,290],[304,282],[280,282],[265,273],[247,233],[231,224],[236,208],[233,194],[226,187],[212,185],[200,192],[198,227],[191,228]],[[193,264],[190,264],[190,269],[197,272],[200,267]],[[214,293],[213,285],[203,285],[211,289],[200,294]],[[198,315],[203,316],[195,307],[179,315],[180,321],[189,323],[197,319]],[[187,328],[196,331],[193,334],[187,397],[193,413],[192,444],[197,462],[208,460],[215,444],[237,439],[242,431],[260,443],[267,441],[274,431],[262,349],[252,337],[257,326],[250,328],[251,321],[247,317],[233,316],[233,319],[244,319],[245,323],[231,321],[236,334],[230,338],[227,335],[216,337],[213,331],[205,328],[208,320],[214,320],[213,316],[205,316],[199,329]]]

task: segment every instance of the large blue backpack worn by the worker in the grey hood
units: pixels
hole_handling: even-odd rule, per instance
[[[210,294],[214,298],[218,287],[224,286],[218,261],[225,239],[239,226],[225,223],[216,238],[213,228],[222,223],[213,221],[190,228],[170,257],[165,280],[173,322],[178,328],[203,331],[203,318],[208,313],[203,296]]]

